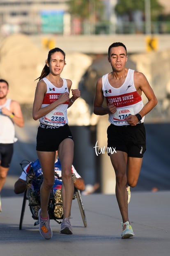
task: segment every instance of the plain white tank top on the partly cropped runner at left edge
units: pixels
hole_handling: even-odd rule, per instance
[[[15,127],[12,119],[3,115],[1,108],[10,110],[11,99],[7,99],[4,105],[0,106],[0,143],[10,144],[17,141],[15,138]]]

